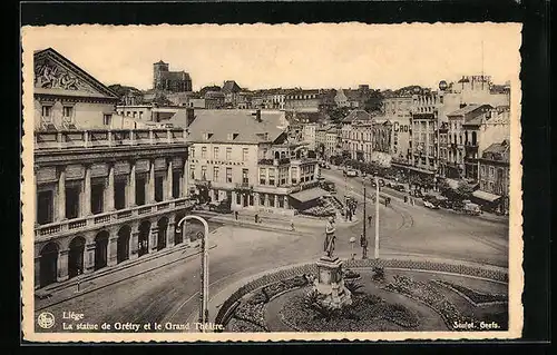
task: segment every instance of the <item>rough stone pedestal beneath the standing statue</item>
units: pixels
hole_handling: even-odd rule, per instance
[[[324,296],[323,304],[330,307],[342,308],[352,304],[352,295],[344,287],[342,279],[342,262],[338,257],[322,256],[317,260],[317,278],[314,286]]]

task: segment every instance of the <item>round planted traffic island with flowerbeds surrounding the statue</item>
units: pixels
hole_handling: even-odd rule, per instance
[[[351,303],[342,307],[321,302],[313,286],[314,263],[242,286],[223,304],[216,322],[224,332],[508,329],[505,273],[428,262],[345,262],[352,274],[345,280]],[[450,273],[457,269],[463,273]]]

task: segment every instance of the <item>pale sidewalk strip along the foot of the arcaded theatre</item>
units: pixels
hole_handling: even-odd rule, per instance
[[[213,230],[212,234],[216,230]],[[212,244],[209,249],[215,247],[216,244]],[[197,254],[201,254],[198,240],[193,243],[183,243],[160,252],[147,254],[146,256],[141,256],[136,259],[126,260],[120,264],[102,268],[92,274],[80,275],[66,282],[47,286],[42,289],[36,290],[35,310],[38,312],[131,277],[140,276],[145,273],[184,260],[185,258],[193,257]],[[45,296],[48,295],[48,297],[37,297],[40,294]]]

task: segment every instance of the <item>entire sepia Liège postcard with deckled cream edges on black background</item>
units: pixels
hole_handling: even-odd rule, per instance
[[[23,338],[519,337],[520,31],[23,27]]]

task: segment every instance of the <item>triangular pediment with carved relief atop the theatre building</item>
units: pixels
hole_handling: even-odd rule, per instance
[[[117,99],[115,92],[51,48],[35,53],[35,93]]]

